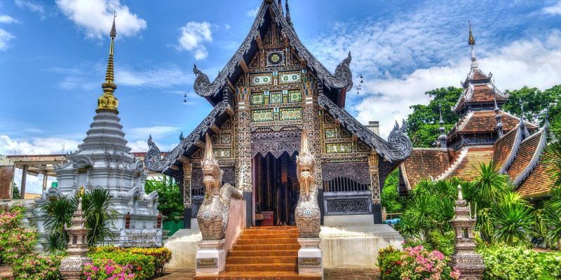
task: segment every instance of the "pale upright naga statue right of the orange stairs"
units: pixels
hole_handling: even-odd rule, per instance
[[[300,237],[318,238],[320,235],[320,207],[318,207],[318,189],[313,176],[316,161],[308,147],[306,130],[302,130],[300,154],[296,157],[297,176],[300,183],[300,195],[295,209],[296,226]]]

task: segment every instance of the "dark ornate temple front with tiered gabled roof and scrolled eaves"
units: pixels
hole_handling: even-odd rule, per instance
[[[264,214],[272,214],[275,225],[292,225],[299,188],[295,156],[305,130],[318,163],[322,222],[353,215],[381,223],[384,179],[410,155],[412,144],[405,127],[396,124],[386,141],[345,111],[353,86],[350,64],[349,53],[334,73],[325,69],[299,41],[288,3],[283,10],[280,1],[265,0],[215,80],[194,67],[195,92],[214,109],[165,157],[150,138],[144,161],[180,181],[185,216],[194,217],[204,194],[201,157],[209,133],[224,183],[243,190],[248,226],[269,223]]]

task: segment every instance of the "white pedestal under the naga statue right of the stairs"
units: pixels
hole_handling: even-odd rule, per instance
[[[321,276],[323,279],[323,258],[321,238],[299,238],[298,274],[302,276]]]

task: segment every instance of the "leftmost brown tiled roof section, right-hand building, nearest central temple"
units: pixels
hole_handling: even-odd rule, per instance
[[[452,163],[454,150],[441,148],[414,148],[400,168],[408,188],[414,188],[421,179],[436,178]]]

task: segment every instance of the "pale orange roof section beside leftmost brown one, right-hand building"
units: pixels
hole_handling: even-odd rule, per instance
[[[471,146],[464,149],[440,179],[459,177],[471,180],[478,175],[480,163],[489,164],[493,158],[493,146]]]

